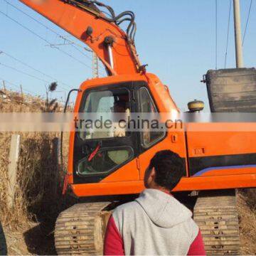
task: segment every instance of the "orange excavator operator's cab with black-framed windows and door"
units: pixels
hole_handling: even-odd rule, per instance
[[[164,104],[157,100],[162,95],[166,96]],[[75,105],[79,129],[70,137],[69,159],[73,160],[69,161],[69,174],[73,185],[82,184],[85,189],[94,183],[119,182],[119,186],[112,183],[119,191],[124,182],[141,181],[149,164],[143,154],[155,151],[154,147],[168,136],[166,129],[137,130],[135,122],[139,119],[132,117],[170,111],[178,112],[168,90],[154,75],[149,74],[148,80],[144,75],[133,75],[84,82]],[[164,143],[168,149],[170,145]],[[185,156],[185,152],[183,147],[180,153]]]

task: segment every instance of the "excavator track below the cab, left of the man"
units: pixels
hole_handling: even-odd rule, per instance
[[[58,255],[102,255],[109,205],[79,203],[60,213],[54,234]]]

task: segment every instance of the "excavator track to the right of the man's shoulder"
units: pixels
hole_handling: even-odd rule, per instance
[[[240,255],[235,190],[199,193],[193,215],[207,255]]]

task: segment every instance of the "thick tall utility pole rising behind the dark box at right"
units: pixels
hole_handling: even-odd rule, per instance
[[[236,67],[243,68],[242,60],[242,36],[240,18],[240,0],[233,0],[234,4],[234,26],[235,26],[235,59]]]

